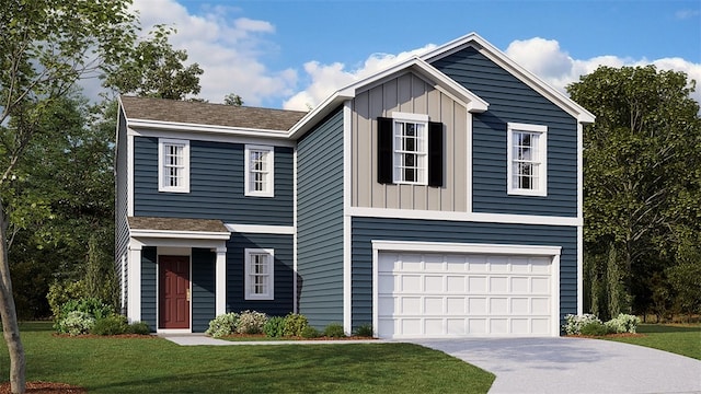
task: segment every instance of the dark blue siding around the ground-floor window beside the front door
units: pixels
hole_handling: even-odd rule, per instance
[[[274,300],[245,300],[245,250],[274,250]],[[294,239],[287,234],[232,233],[227,242],[227,312],[250,310],[271,316],[292,312],[295,293]],[[214,308],[215,300],[211,300]]]

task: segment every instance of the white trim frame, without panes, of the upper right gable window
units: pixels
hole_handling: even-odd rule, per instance
[[[538,187],[535,189],[517,188],[514,185],[514,132],[526,131],[537,132],[538,137],[538,151],[541,155],[539,159],[540,165],[538,166]],[[543,125],[529,125],[520,123],[508,123],[506,134],[506,185],[507,194],[515,196],[548,196],[548,126]]]

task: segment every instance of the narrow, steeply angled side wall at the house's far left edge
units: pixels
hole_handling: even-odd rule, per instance
[[[127,174],[127,128],[124,113],[119,111],[117,124],[117,146],[116,146],[116,174],[115,174],[115,240],[114,240],[114,267],[119,289],[126,288],[127,283],[123,283],[122,258],[127,258],[127,248],[129,247],[129,227],[127,224],[128,216],[128,174]],[[127,278],[125,266],[124,278]],[[128,294],[128,291],[125,292]],[[120,305],[126,308],[125,304]]]

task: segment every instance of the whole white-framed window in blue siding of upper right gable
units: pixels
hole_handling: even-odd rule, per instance
[[[508,124],[507,190],[510,195],[548,194],[548,127]]]

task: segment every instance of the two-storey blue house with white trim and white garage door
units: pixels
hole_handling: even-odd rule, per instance
[[[123,96],[124,312],[225,312],[387,338],[556,336],[582,313],[582,134],[594,116],[476,34],[309,113]]]

